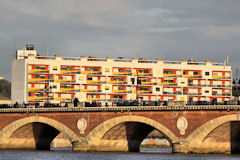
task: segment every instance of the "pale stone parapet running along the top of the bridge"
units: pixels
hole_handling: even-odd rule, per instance
[[[195,105],[195,106],[126,106],[126,107],[76,107],[76,108],[4,108],[0,113],[44,113],[44,112],[128,112],[128,111],[238,111],[240,105]]]

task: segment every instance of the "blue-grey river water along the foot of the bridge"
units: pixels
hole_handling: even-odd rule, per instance
[[[172,154],[169,149],[141,149],[141,153],[7,151],[0,150],[0,160],[236,160],[240,155]]]

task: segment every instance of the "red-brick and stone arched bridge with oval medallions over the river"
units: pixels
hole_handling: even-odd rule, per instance
[[[139,151],[154,129],[173,152],[238,153],[240,106],[0,109],[0,149],[49,149],[60,133],[75,151]]]

